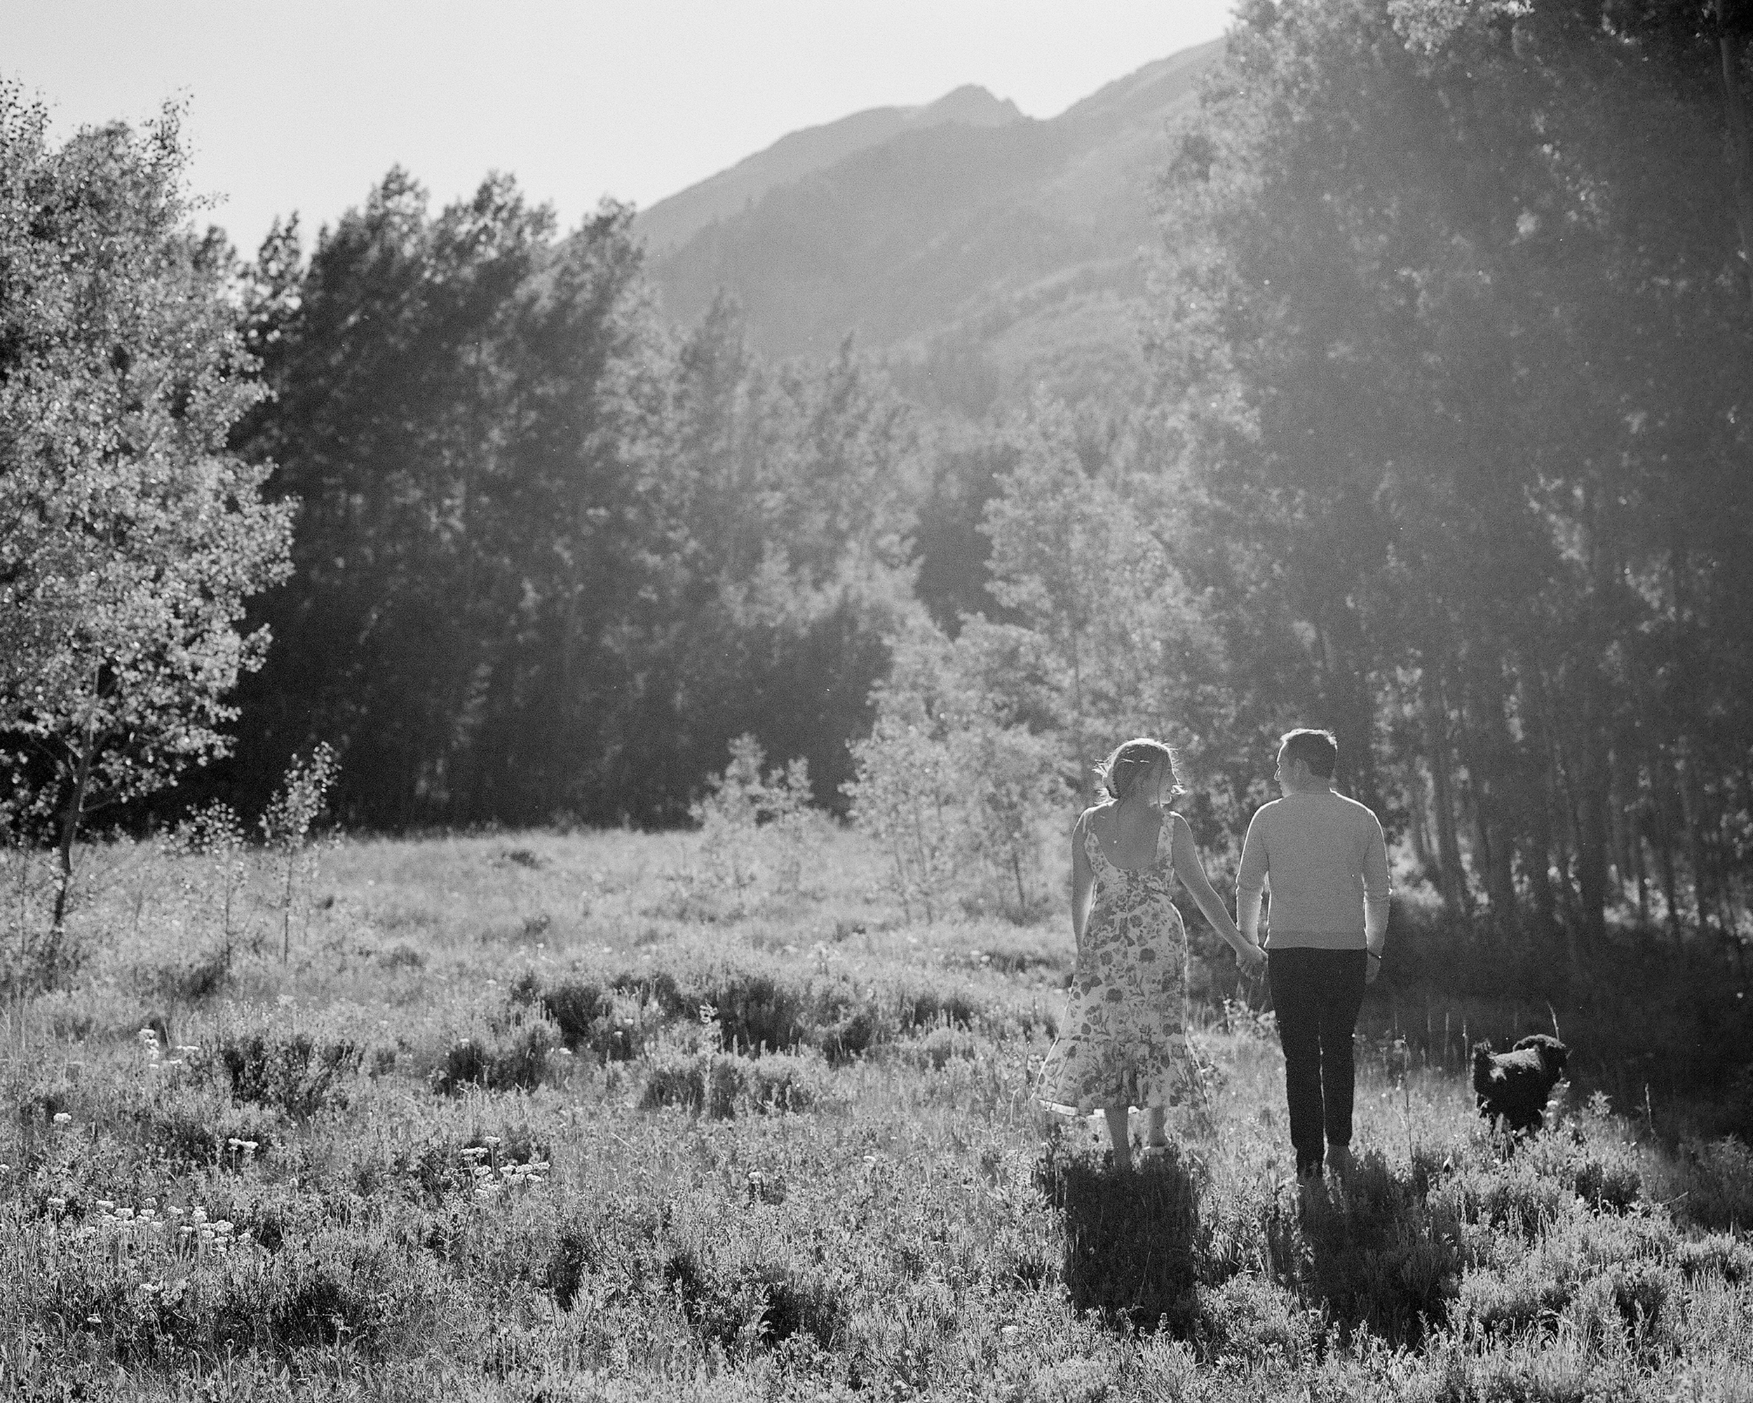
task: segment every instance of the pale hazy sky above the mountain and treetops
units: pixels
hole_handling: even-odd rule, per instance
[[[1224,32],[1232,0],[0,0],[0,77],[60,133],[188,102],[193,184],[245,251],[401,163],[510,170],[573,224],[799,126],[978,82],[1048,118]]]

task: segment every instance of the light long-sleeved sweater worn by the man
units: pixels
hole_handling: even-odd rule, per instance
[[[1388,849],[1357,800],[1317,789],[1267,803],[1248,824],[1236,891],[1252,933],[1260,889],[1273,893],[1266,947],[1381,952],[1388,928]],[[1366,937],[1367,929],[1367,937]]]

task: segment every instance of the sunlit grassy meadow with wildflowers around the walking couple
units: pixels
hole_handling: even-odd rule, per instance
[[[1565,1029],[1508,1154],[1460,1024],[1539,1026],[1404,937],[1357,1172],[1299,1193],[1201,958],[1203,1094],[1117,1173],[1029,1096],[1062,914],[910,924],[884,872],[826,821],[93,845],[5,1005],[0,1396],[1753,1399],[1753,1152],[1671,1082]]]

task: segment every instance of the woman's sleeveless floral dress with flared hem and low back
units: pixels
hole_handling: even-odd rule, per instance
[[[1162,828],[1173,817],[1164,814]],[[1092,824],[1083,851],[1096,875],[1096,903],[1071,972],[1061,1035],[1041,1066],[1038,1096],[1089,1115],[1104,1107],[1176,1105],[1196,1070],[1187,1045],[1187,928],[1175,910],[1175,863],[1115,866]],[[1173,842],[1171,842],[1173,852]]]

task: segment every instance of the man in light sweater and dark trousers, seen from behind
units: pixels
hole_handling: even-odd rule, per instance
[[[1236,924],[1260,928],[1273,893],[1266,977],[1285,1047],[1285,1100],[1297,1173],[1352,1161],[1352,1033],[1364,986],[1381,970],[1388,933],[1388,851],[1376,815],[1332,791],[1339,747],[1331,731],[1288,731],[1278,749],[1281,800],[1248,824],[1236,877]]]

